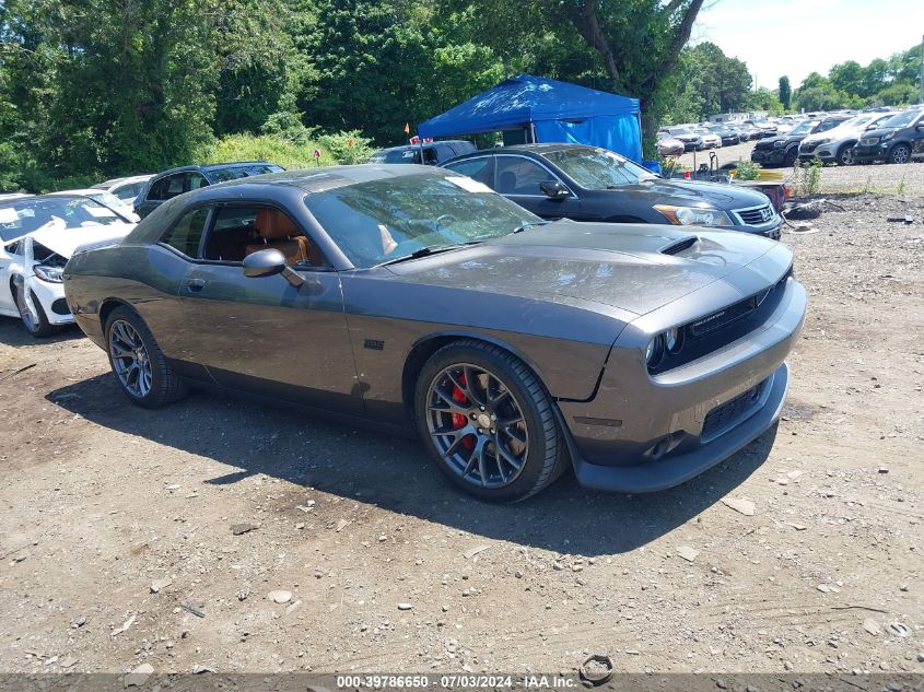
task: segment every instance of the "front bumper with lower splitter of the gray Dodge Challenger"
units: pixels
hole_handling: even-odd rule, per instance
[[[805,290],[788,278],[758,328],[660,375],[645,372],[641,354],[634,364],[620,362],[619,352],[624,360],[631,349],[619,349],[617,342],[597,396],[589,402],[559,402],[578,482],[615,492],[664,490],[769,430],[786,396],[785,359],[805,308]]]

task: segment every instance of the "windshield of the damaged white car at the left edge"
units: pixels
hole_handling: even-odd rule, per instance
[[[0,238],[4,243],[43,226],[80,228],[113,223],[124,220],[86,197],[25,198],[0,204]]]

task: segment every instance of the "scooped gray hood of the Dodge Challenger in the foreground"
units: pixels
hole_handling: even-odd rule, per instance
[[[665,254],[678,244],[676,254]],[[753,277],[740,285],[729,278],[771,251],[788,254],[788,266],[784,246],[745,233],[562,221],[389,269],[411,283],[578,300],[644,315],[716,281],[752,295],[780,277],[761,278],[757,288]]]

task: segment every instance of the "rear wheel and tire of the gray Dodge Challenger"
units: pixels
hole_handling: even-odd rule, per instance
[[[171,370],[154,335],[138,313],[126,306],[117,307],[106,319],[104,335],[109,367],[132,403],[156,409],[186,396],[189,387]]]

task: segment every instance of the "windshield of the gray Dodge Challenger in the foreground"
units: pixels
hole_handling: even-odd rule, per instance
[[[461,176],[407,175],[309,195],[305,206],[359,268],[490,241],[539,218]]]

